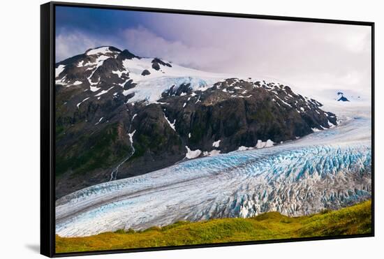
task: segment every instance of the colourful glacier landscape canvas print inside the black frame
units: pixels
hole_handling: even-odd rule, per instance
[[[56,253],[371,233],[371,27],[56,6]]]

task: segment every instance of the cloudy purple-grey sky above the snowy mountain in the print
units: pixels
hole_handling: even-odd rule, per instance
[[[57,61],[113,45],[205,71],[370,95],[371,27],[57,7]]]

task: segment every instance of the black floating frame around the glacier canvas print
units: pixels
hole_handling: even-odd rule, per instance
[[[55,64],[55,7],[73,6],[80,8],[102,8],[114,10],[137,10],[157,13],[177,13],[188,15],[209,15],[221,17],[243,17],[264,20],[284,20],[297,22],[318,22],[327,24],[354,24],[371,27],[371,200],[372,200],[372,232],[366,235],[341,235],[330,237],[305,237],[293,239],[273,239],[249,242],[230,242],[219,244],[197,244],[184,246],[163,246],[142,249],[118,249],[110,251],[84,251],[75,253],[55,253],[54,226],[54,164],[55,164],[55,114],[54,114],[54,64]],[[48,257],[85,256],[108,253],[131,253],[142,251],[161,251],[170,249],[195,249],[215,246],[238,246],[246,244],[266,244],[279,242],[300,242],[324,239],[345,239],[354,237],[374,237],[374,22],[358,22],[348,20],[326,20],[304,17],[283,17],[271,15],[250,15],[242,13],[216,13],[197,10],[175,10],[161,8],[141,8],[128,6],[108,6],[89,3],[49,2],[40,6],[40,253]]]

